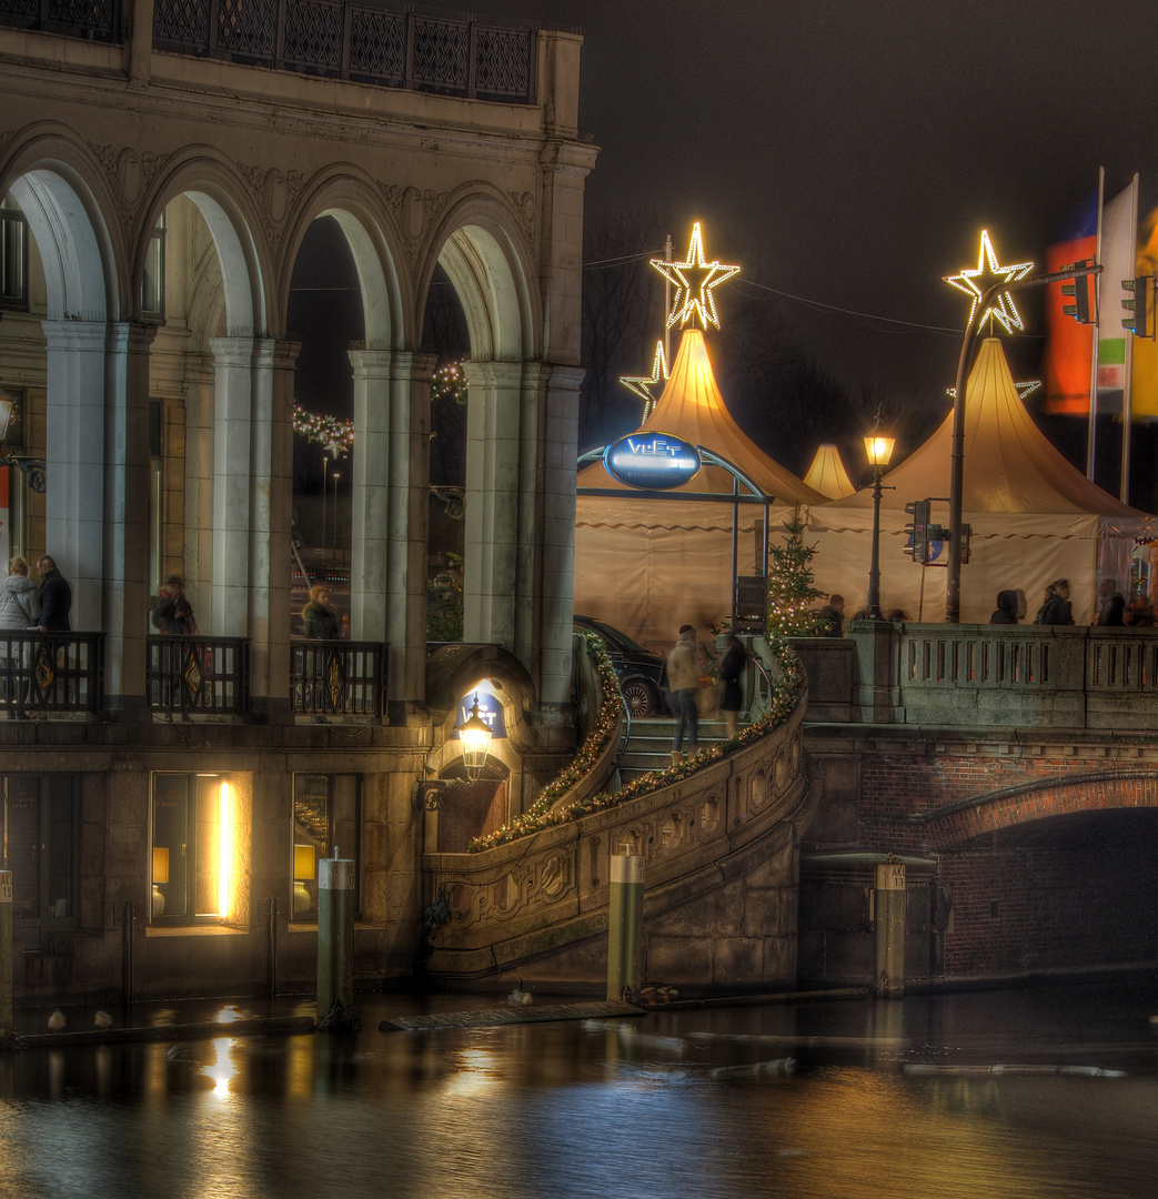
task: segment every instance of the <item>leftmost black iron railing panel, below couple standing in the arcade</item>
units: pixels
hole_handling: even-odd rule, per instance
[[[103,633],[0,633],[0,707],[10,719],[103,704]]]

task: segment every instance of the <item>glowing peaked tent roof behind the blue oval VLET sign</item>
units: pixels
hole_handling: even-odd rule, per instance
[[[716,385],[707,345],[699,329],[684,330],[671,364],[671,376],[640,432],[670,433],[692,445],[711,450],[742,471],[765,495],[773,496],[778,505],[820,504],[825,499],[820,492],[766,454],[732,420]],[[640,499],[632,488],[609,475],[602,462],[584,466],[579,471],[578,482],[579,487],[623,493],[622,502],[580,496],[580,520],[587,523],[667,525],[673,518],[664,514],[665,508],[687,507],[683,504],[669,505]],[[722,495],[730,495],[731,490],[732,478],[725,470],[705,466],[689,483],[673,488],[668,494],[678,496],[680,492],[719,492]],[[719,513],[712,513],[710,518],[713,528],[719,525],[720,513],[728,524],[731,523],[730,507],[719,507]],[[702,522],[693,518],[692,523],[694,526]],[[687,528],[681,518],[675,518],[674,526]]]

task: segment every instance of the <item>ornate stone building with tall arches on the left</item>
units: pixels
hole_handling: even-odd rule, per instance
[[[416,783],[432,754],[454,758],[459,701],[482,687],[511,730],[491,754],[501,815],[575,745],[596,156],[580,38],[350,2],[137,0],[55,25],[26,10],[0,0],[0,500],[7,554],[48,553],[70,580],[73,633],[4,643],[10,715],[36,717],[0,724],[17,994],[308,981],[307,867],[338,849],[356,861],[358,972],[409,975],[430,831]],[[322,221],[355,264],[364,338],[349,646],[303,650],[288,306]],[[480,649],[432,689],[438,271],[470,339],[464,643]],[[200,626],[176,649],[149,623],[169,573]]]

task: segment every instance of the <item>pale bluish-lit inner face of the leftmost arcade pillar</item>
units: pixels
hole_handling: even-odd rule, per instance
[[[72,584],[72,627],[103,627],[104,321],[42,321],[48,342],[43,550]],[[147,424],[145,426],[147,429]]]

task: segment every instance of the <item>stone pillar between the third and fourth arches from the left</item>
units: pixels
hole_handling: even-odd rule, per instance
[[[351,350],[350,634],[388,641],[391,723],[426,700],[430,354]]]

